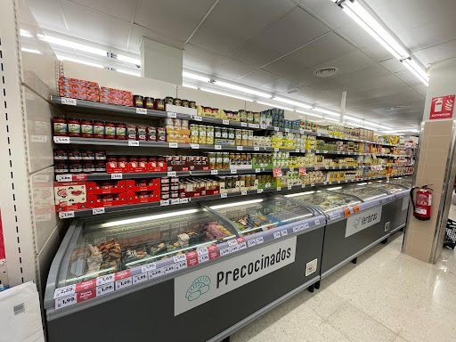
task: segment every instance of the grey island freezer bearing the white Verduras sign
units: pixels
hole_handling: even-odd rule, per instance
[[[319,207],[327,216],[322,279],[389,236],[385,227],[390,218],[383,207],[394,195],[387,191],[348,185],[288,196]]]

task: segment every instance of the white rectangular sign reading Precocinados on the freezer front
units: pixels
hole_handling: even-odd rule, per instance
[[[296,236],[175,278],[175,316],[295,262]]]

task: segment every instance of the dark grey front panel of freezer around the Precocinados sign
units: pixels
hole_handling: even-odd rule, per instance
[[[318,281],[323,230],[321,227],[297,235],[296,257],[292,264],[183,314],[175,316],[175,281],[171,279],[47,322],[49,342],[79,342],[78,334],[68,333],[74,330],[75,324],[90,331],[85,335],[87,342],[142,340],[144,336],[158,341],[206,341],[305,282]],[[314,259],[318,261],[316,272],[305,276],[306,264]],[[122,322],[121,326],[113,324],[117,320]]]

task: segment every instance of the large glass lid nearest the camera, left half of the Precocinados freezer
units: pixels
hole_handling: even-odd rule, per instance
[[[59,287],[205,248],[237,236],[231,224],[199,206],[158,208],[142,215],[84,220],[76,244],[69,250],[68,267],[61,269]]]

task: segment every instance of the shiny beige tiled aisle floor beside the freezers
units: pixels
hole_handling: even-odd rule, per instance
[[[232,342],[456,341],[456,256],[437,265],[379,244],[232,335]]]

